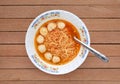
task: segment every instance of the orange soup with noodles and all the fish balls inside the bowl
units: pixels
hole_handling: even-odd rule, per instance
[[[62,19],[52,19],[37,30],[34,38],[35,49],[40,58],[49,64],[66,64],[80,50],[80,44],[73,39],[74,36],[80,39],[74,25]]]

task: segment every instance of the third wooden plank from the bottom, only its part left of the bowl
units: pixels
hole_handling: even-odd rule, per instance
[[[0,57],[0,68],[35,68],[28,57]]]

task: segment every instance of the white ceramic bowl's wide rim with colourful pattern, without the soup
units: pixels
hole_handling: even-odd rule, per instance
[[[54,75],[66,74],[77,69],[85,61],[88,55],[88,50],[81,46],[78,55],[72,61],[64,65],[56,66],[43,61],[36,53],[34,47],[34,36],[38,28],[44,22],[52,19],[64,19],[71,22],[77,28],[81,40],[87,45],[90,45],[89,32],[80,18],[68,11],[50,10],[40,14],[32,21],[26,33],[25,47],[27,50],[28,57],[38,69],[42,70],[43,72]]]

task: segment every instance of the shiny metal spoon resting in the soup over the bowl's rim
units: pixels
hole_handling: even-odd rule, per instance
[[[108,62],[109,61],[109,59],[104,54],[102,54],[99,51],[93,49],[92,47],[86,45],[85,43],[83,43],[82,41],[80,41],[75,36],[74,36],[74,40],[77,41],[78,43],[82,44],[85,48],[87,48],[91,53],[93,53],[95,56],[97,56],[102,61],[104,61],[104,62]]]

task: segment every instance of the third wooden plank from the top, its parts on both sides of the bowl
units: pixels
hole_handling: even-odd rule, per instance
[[[27,31],[32,20],[33,19],[0,19],[0,31]],[[82,20],[89,31],[120,31],[120,19]]]

